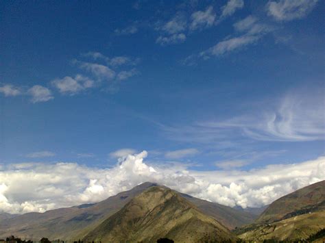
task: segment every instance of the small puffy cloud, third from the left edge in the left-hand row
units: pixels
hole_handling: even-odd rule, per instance
[[[88,77],[76,75],[74,78],[66,76],[62,79],[54,79],[51,84],[62,94],[77,94],[87,88],[92,88],[95,82]]]

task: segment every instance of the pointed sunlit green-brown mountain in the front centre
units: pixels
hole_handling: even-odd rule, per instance
[[[235,242],[214,218],[200,212],[177,192],[155,186],[141,192],[119,212],[104,220],[84,242]]]

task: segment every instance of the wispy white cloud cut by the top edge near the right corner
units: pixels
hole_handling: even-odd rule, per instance
[[[291,21],[303,18],[315,7],[317,0],[280,0],[269,1],[267,11],[277,21]]]

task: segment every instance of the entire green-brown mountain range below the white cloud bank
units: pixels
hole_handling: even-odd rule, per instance
[[[84,242],[236,242],[325,237],[325,181],[262,209],[232,208],[143,183],[99,203],[43,214],[0,214],[0,238]],[[323,236],[322,236],[323,235]],[[325,238],[324,238],[325,239]],[[316,241],[317,242],[317,241]]]

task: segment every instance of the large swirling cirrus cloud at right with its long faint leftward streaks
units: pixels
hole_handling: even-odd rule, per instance
[[[294,142],[325,140],[324,99],[322,90],[301,88],[263,107],[258,103],[253,109],[251,103],[250,110],[239,116],[161,128],[170,139],[209,144],[248,138]]]

